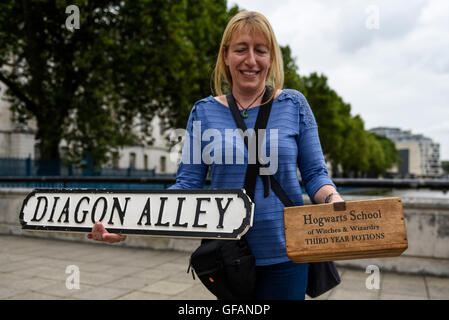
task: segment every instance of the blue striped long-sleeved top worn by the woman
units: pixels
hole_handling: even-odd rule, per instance
[[[248,109],[248,118],[244,119],[248,131],[254,128],[258,111],[259,107]],[[238,133],[230,135],[236,128],[229,108],[213,96],[196,102],[187,123],[176,184],[170,189],[201,189],[208,171],[211,188],[242,188],[248,152]],[[328,176],[315,118],[300,92],[284,89],[274,99],[264,141],[265,159],[271,159],[269,170],[296,206],[304,204],[297,168],[310,199],[323,185],[335,187]],[[284,205],[272,190],[264,198],[260,176],[254,200],[253,226],[246,237],[256,265],[289,261],[285,250]]]

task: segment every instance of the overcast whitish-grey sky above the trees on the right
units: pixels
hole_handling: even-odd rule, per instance
[[[449,160],[449,1],[228,0],[234,4],[265,15],[299,73],[325,74],[365,129],[423,134]]]

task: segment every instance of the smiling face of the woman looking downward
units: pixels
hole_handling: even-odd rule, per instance
[[[233,91],[252,94],[262,91],[271,64],[268,42],[262,33],[244,27],[224,50]]]

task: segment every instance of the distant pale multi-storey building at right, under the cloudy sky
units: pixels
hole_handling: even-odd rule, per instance
[[[401,163],[390,173],[401,177],[437,177],[442,174],[440,162],[440,144],[422,134],[413,134],[410,130],[377,127],[369,130],[392,140],[399,151]]]

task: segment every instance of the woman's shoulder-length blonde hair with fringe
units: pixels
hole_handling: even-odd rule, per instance
[[[274,97],[276,91],[282,89],[284,86],[282,53],[270,22],[268,22],[264,15],[254,11],[241,11],[237,13],[226,26],[213,73],[215,94],[221,96],[224,94],[223,91],[232,90],[232,77],[229,68],[225,64],[224,52],[228,50],[233,36],[239,33],[244,27],[249,27],[252,34],[260,32],[268,42],[271,64],[265,83],[274,88],[272,93],[272,97]]]

